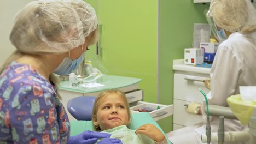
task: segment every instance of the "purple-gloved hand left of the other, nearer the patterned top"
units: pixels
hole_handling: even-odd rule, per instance
[[[101,138],[109,138],[111,134],[97,131],[84,131],[76,136],[71,136],[68,144],[94,144]],[[103,144],[103,143],[102,143]]]

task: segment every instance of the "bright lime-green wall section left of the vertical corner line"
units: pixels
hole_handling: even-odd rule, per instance
[[[144,90],[144,101],[156,103],[158,1],[87,2],[98,9],[102,26],[100,58],[107,73],[141,78],[139,88]]]

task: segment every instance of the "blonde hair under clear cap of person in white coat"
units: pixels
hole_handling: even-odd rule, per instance
[[[214,4],[214,2],[221,2]],[[231,33],[256,31],[255,8],[248,0],[213,0],[212,16],[217,26]]]

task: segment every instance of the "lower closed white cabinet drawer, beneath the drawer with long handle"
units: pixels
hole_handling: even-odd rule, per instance
[[[174,99],[173,124],[184,125],[184,127],[188,127],[190,125],[202,122],[201,115],[193,115],[186,111],[187,106],[184,106],[184,104],[189,103],[189,101]]]

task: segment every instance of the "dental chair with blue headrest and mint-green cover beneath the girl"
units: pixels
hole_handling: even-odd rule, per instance
[[[68,101],[67,109],[71,115],[77,119],[70,121],[70,135],[75,136],[85,130],[94,130],[91,121],[91,112],[96,97],[80,96]],[[172,144],[166,136],[164,130],[154,121],[148,112],[131,113],[131,123],[127,126],[129,129],[136,130],[141,125],[154,124],[166,137],[168,143]]]

